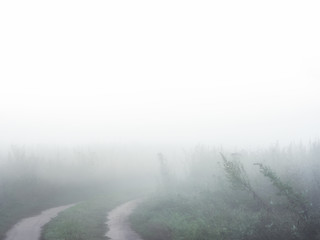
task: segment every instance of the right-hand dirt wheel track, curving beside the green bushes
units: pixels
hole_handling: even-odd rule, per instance
[[[111,240],[142,240],[140,236],[134,232],[129,223],[129,216],[141,200],[133,200],[122,204],[108,214],[106,224],[109,231],[106,236]]]

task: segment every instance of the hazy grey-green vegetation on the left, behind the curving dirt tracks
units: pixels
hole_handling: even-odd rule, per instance
[[[108,151],[100,154],[70,149],[32,152],[15,146],[8,154],[0,152],[0,239],[22,218],[40,214],[47,208],[120,190],[145,189],[147,184],[137,187],[139,178],[128,181],[133,179],[130,174],[138,175],[137,170],[132,167],[128,174],[124,170],[119,175],[126,175],[127,179],[120,179],[116,167],[110,166],[113,155]],[[69,229],[73,229],[73,223]]]

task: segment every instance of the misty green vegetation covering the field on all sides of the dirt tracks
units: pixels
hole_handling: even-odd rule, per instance
[[[139,165],[128,156],[15,147],[0,155],[2,237],[23,217],[81,201],[46,225],[42,239],[105,239],[107,211],[156,178],[145,165],[151,161]],[[144,239],[320,239],[319,142],[236,153],[198,147],[186,159],[185,171],[164,154],[154,161],[159,191],[131,217]]]

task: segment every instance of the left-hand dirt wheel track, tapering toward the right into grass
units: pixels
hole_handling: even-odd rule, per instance
[[[5,240],[38,240],[41,228],[56,217],[59,212],[73,205],[50,208],[37,216],[22,219],[7,232]]]

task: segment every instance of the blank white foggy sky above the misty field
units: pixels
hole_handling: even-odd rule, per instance
[[[320,136],[319,1],[0,1],[0,143]]]

